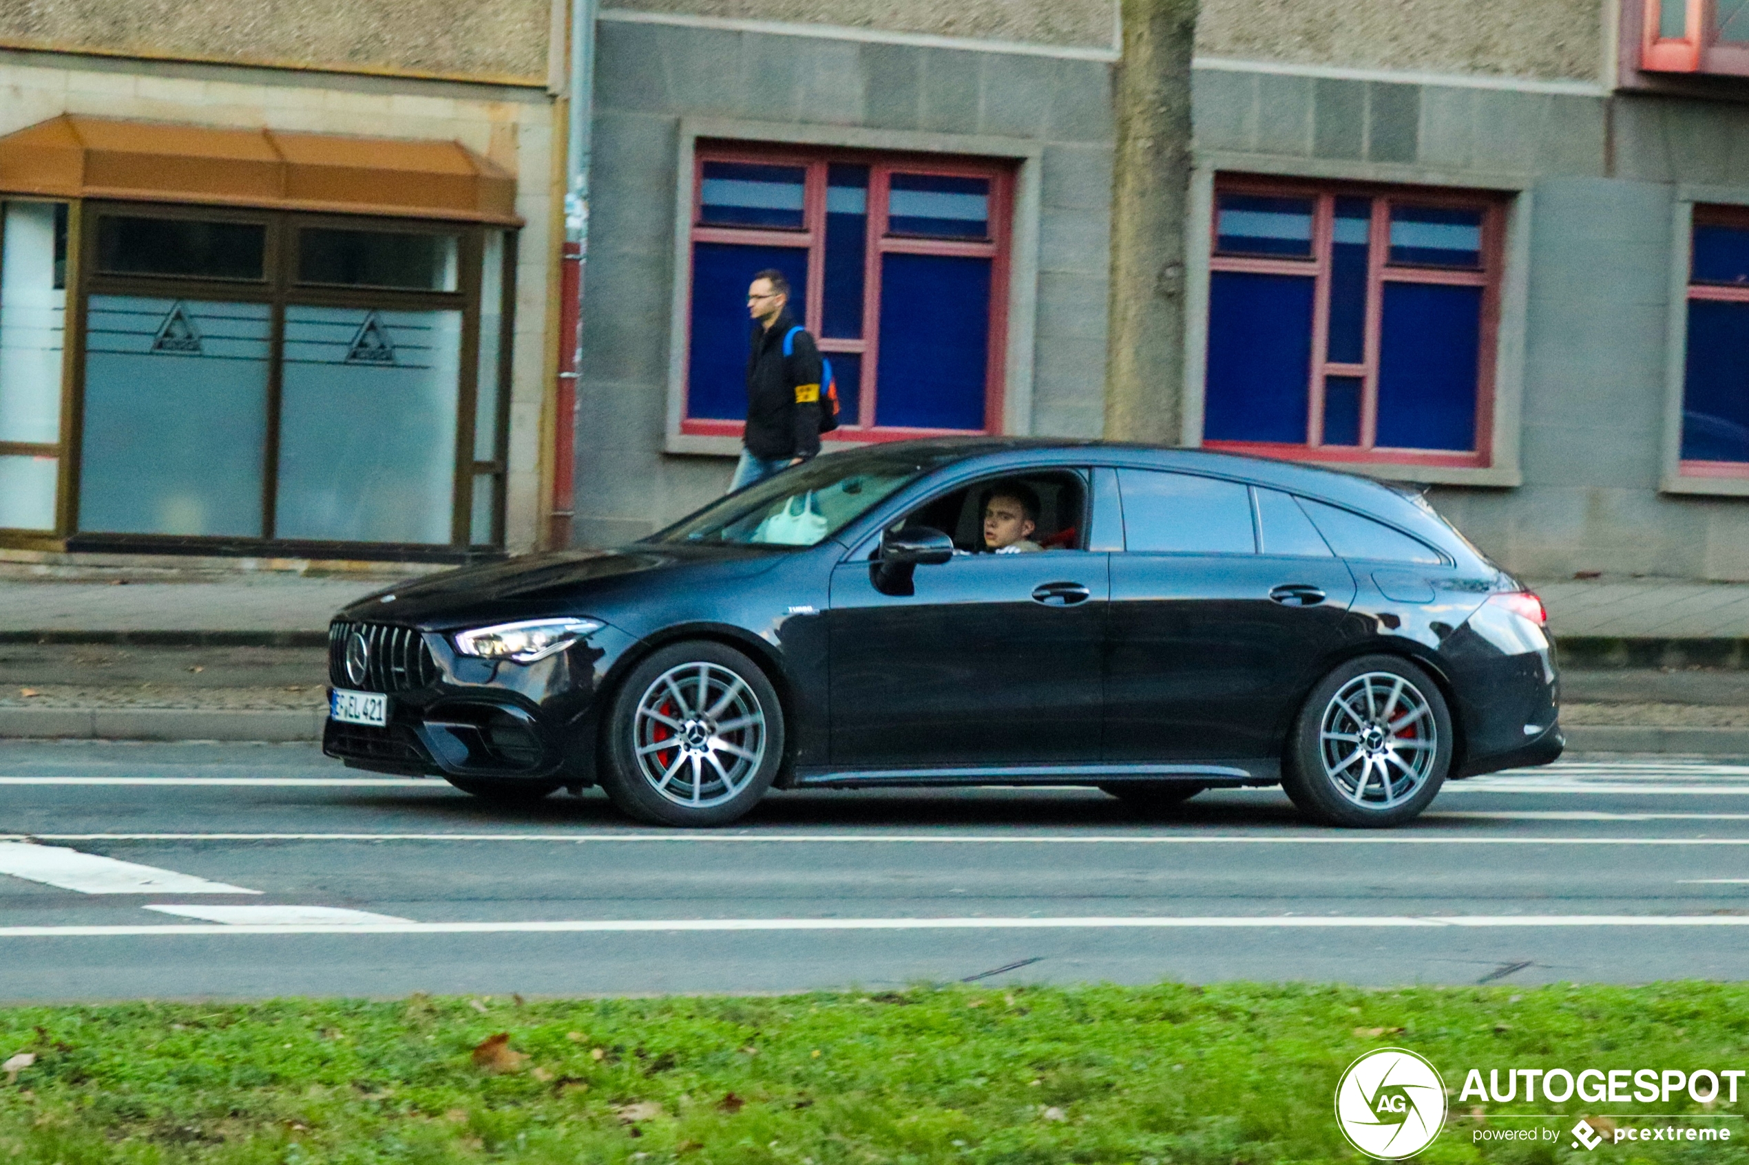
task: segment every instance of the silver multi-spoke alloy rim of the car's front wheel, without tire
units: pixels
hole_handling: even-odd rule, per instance
[[[764,707],[721,664],[680,664],[658,676],[638,699],[631,732],[638,774],[689,809],[733,800],[764,762]]]

